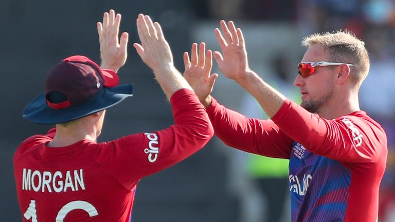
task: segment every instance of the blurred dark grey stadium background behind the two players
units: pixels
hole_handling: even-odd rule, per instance
[[[41,93],[47,72],[61,59],[83,54],[99,62],[96,22],[109,9],[122,14],[121,31],[130,33],[129,58],[119,76],[121,83],[134,83],[135,94],[107,112],[100,141],[151,132],[173,121],[169,103],[132,46],[138,41],[135,18],[139,12],[163,26],[181,72],[182,54],[193,42],[204,41],[208,48],[218,50],[213,29],[220,19],[235,21],[244,32],[250,66],[268,82],[288,84],[279,90],[294,96],[298,93],[292,85],[296,64],[304,52],[301,38],[313,32],[352,30],[366,42],[371,59],[370,74],[361,89],[361,106],[385,127],[388,136],[379,221],[395,221],[394,1],[1,0],[0,8],[0,221],[21,221],[12,170],[14,150],[26,137],[45,133],[50,127],[25,121],[24,106]],[[219,72],[216,64],[213,71]],[[296,89],[296,93],[285,92],[289,89]],[[248,111],[259,110],[250,105],[254,103],[245,102],[252,98],[241,87],[221,74],[213,95],[247,116]],[[143,178],[132,221],[265,221],[264,209],[271,200],[259,194],[247,173],[247,156],[214,138],[184,162]],[[288,192],[286,187],[283,192]],[[290,220],[289,206],[286,200],[281,221]]]

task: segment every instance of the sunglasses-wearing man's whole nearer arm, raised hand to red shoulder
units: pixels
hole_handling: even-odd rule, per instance
[[[378,161],[383,146],[380,141],[385,137],[380,126],[363,116],[326,120],[286,99],[248,68],[241,30],[231,21],[228,26],[221,21],[221,28],[225,38],[218,29],[216,36],[223,56],[214,52],[219,68],[255,97],[281,132],[320,156],[345,162]]]

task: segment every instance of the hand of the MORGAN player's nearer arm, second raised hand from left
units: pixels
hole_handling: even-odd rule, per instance
[[[144,63],[154,72],[174,68],[173,55],[159,23],[153,23],[148,15],[139,14],[137,32],[141,45],[134,43],[133,46]]]

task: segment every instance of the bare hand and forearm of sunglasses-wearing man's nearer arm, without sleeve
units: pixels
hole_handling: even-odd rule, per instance
[[[214,52],[214,59],[220,70],[227,78],[235,80],[254,96],[267,116],[273,117],[286,98],[249,69],[241,29],[236,28],[232,21],[228,22],[228,25],[221,21],[220,25],[225,38],[219,29],[216,29],[215,33],[223,54]]]

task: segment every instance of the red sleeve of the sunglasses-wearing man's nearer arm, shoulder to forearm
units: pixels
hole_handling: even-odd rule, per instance
[[[311,152],[343,162],[376,162],[386,143],[383,128],[367,115],[327,120],[286,100],[272,120]]]

